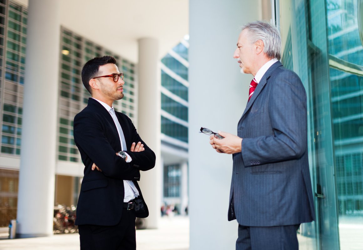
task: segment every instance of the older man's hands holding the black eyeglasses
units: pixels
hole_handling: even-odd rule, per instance
[[[218,153],[234,154],[241,152],[242,138],[235,136],[233,134],[218,131],[218,134],[223,136],[223,139],[217,139],[214,134],[212,134],[209,139],[213,149]]]

